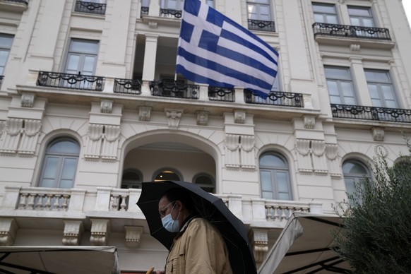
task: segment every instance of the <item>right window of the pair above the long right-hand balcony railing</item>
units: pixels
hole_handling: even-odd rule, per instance
[[[373,107],[398,108],[390,73],[370,69],[366,69],[364,72]]]

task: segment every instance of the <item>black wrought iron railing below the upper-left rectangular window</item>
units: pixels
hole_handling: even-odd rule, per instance
[[[40,71],[37,77],[37,85],[53,88],[70,88],[74,90],[102,91],[105,78],[100,76],[88,76],[70,73]]]

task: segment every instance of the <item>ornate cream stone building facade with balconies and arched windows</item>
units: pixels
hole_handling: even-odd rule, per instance
[[[204,0],[203,0],[204,1]],[[0,0],[0,244],[117,246],[161,269],[141,181],[190,181],[257,266],[293,211],[333,213],[411,128],[400,0],[208,0],[280,53],[266,100],[174,79],[183,0]]]

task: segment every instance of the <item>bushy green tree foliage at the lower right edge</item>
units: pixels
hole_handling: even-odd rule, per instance
[[[411,273],[411,145],[405,140],[407,157],[389,166],[377,153],[374,177],[335,207],[345,225],[335,235],[335,251],[353,273]]]

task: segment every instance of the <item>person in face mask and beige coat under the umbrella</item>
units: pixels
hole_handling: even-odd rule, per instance
[[[184,189],[170,189],[158,203],[162,224],[178,232],[167,256],[165,271],[157,273],[232,274],[228,251],[220,232],[196,213]]]

